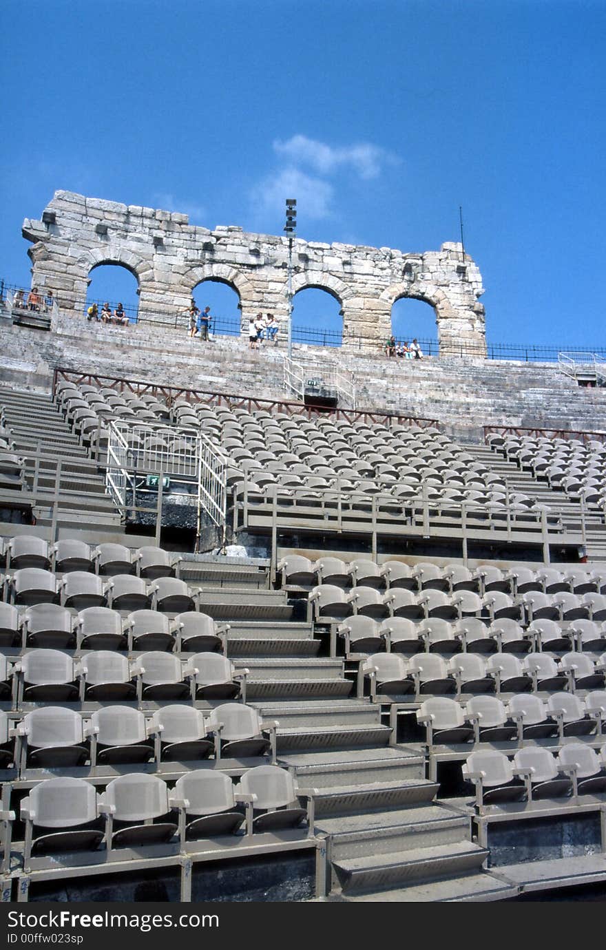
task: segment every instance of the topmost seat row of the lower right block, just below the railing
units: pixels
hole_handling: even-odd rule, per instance
[[[307,589],[318,584],[333,584],[349,588],[403,587],[407,590],[441,590],[446,593],[472,591],[486,594],[502,591],[504,594],[523,594],[540,591],[543,594],[569,592],[571,594],[606,593],[606,568],[583,570],[578,567],[562,571],[554,567],[539,567],[533,570],[523,565],[502,569],[491,564],[482,564],[470,569],[463,564],[437,564],[422,562],[407,564],[404,561],[374,561],[355,559],[347,563],[339,558],[319,558],[310,561],[301,555],[288,555],[277,564],[282,572],[283,586]]]

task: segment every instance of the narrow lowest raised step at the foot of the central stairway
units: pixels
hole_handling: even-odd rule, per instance
[[[470,841],[342,859],[332,864],[344,894],[478,872],[488,851]]]

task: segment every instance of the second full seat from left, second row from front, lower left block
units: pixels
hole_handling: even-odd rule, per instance
[[[154,725],[132,706],[105,706],[92,713],[90,724],[93,765],[131,765],[153,757]]]

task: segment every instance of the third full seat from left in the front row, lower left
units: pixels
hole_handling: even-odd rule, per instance
[[[180,806],[181,840],[236,834],[244,822],[244,815],[236,810],[240,796],[223,772],[198,769],[182,775],[171,799],[186,803]],[[192,815],[196,817],[188,821]]]

